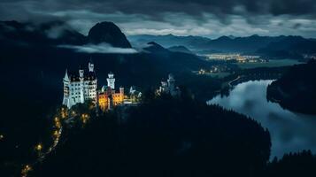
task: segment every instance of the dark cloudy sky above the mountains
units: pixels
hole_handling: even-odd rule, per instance
[[[0,20],[12,19],[62,19],[84,35],[108,20],[126,35],[316,38],[316,0],[1,0]]]

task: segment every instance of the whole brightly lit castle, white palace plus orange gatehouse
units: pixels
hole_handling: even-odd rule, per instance
[[[115,92],[115,78],[113,73],[108,74],[107,86],[97,90],[97,79],[94,64],[89,62],[89,71],[82,68],[78,73],[68,73],[64,77],[64,99],[63,104],[69,109],[75,104],[84,104],[90,100],[96,103],[102,111],[111,110],[113,106],[124,102],[124,88]]]

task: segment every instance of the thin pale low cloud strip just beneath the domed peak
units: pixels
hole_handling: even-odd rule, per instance
[[[58,45],[59,48],[71,49],[81,53],[117,53],[133,54],[138,51],[135,49],[112,47],[108,43],[86,44],[86,45]]]

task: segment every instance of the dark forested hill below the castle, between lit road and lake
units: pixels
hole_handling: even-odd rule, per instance
[[[30,176],[247,177],[265,169],[271,146],[266,129],[185,93],[179,99],[144,94],[125,123],[117,121],[119,110],[92,118]]]

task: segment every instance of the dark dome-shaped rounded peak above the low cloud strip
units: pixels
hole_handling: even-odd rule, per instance
[[[104,21],[97,23],[89,30],[88,42],[110,43],[113,47],[131,48],[127,37],[120,31],[119,27],[112,22]]]

